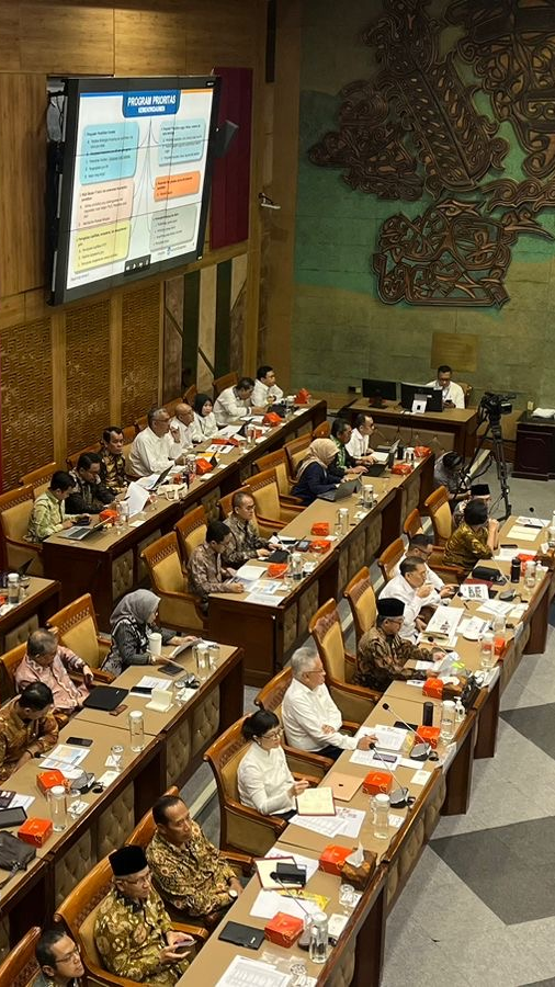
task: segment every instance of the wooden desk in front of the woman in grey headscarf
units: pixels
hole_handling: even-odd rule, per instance
[[[171,648],[167,649],[168,651]],[[202,761],[206,748],[231,724],[242,716],[242,651],[240,648],[220,645],[220,659],[216,669],[209,671],[205,682],[183,706],[175,703],[159,713],[147,708],[148,696],[132,695],[125,699],[126,708],[118,716],[102,710],[81,710],[73,718],[75,730],[78,723],[95,724],[105,730],[117,731],[124,747],[128,745],[128,714],[140,710],[145,723],[145,736],[158,737],[162,742],[160,751],[160,792],[170,785],[182,787]],[[196,674],[191,649],[175,659],[183,666],[183,672]],[[161,666],[133,666],[117,677],[115,684],[132,689],[143,676],[170,678]],[[172,681],[180,676],[172,676]]]

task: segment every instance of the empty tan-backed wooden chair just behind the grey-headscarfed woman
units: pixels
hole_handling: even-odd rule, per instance
[[[70,648],[92,669],[99,682],[111,682],[113,676],[101,666],[110,651],[110,635],[99,632],[90,593],[83,593],[48,619],[48,627],[57,631],[59,643]]]

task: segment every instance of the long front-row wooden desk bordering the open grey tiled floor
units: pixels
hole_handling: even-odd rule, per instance
[[[511,524],[512,522],[508,521],[501,529],[501,541],[507,537]],[[536,540],[535,545],[526,543],[522,549],[525,552],[535,549],[540,542],[541,536]],[[498,566],[505,572],[508,572],[510,566],[505,561],[488,564]],[[374,985],[377,987],[383,965],[387,915],[417,865],[440,814],[454,815],[466,812],[471,799],[473,762],[476,758],[494,757],[495,755],[500,693],[523,654],[537,653],[545,648],[547,609],[555,590],[553,563],[548,571],[544,574],[542,581],[531,592],[524,589],[522,581],[520,586],[514,586],[514,589],[518,593],[529,597],[526,612],[523,619],[508,631],[503,658],[489,673],[489,681],[480,690],[474,707],[458,724],[445,763],[438,765],[434,761],[428,761],[422,765],[418,764],[418,768],[430,772],[423,786],[415,783],[415,768],[400,767],[396,769],[397,780],[408,787],[409,794],[415,796],[416,802],[411,808],[392,809],[392,815],[400,819],[400,826],[398,828],[390,827],[387,841],[375,839],[373,826],[367,817],[363,822],[359,839],[364,849],[377,853],[378,866],[350,917],[338,945],[330,950],[326,965],[321,967],[310,963],[307,954],[296,945],[286,950],[269,942],[262,945],[261,955],[259,953],[250,954],[252,958],[262,958],[284,972],[303,964],[306,974],[316,978],[317,984],[322,987],[324,985],[325,987],[340,987],[340,985],[347,984],[350,984],[351,987],[374,987]],[[468,604],[468,610],[474,613],[478,606],[478,602],[472,602]],[[471,670],[479,669],[477,643],[465,640],[460,636],[456,650]],[[393,706],[395,712],[384,710],[383,701]],[[409,685],[406,682],[394,682],[384,694],[383,701],[367,717],[366,726],[393,725],[397,718],[405,719],[409,724],[420,725],[422,723],[424,696],[421,688]],[[439,726],[441,702],[428,700],[428,697],[426,701],[433,703],[433,723]],[[320,784],[328,784],[330,778],[337,772],[363,779],[369,768],[353,763],[350,757],[350,751],[343,752]],[[362,789],[359,789],[347,805],[352,808],[367,809],[369,796],[363,794]],[[341,835],[330,840],[318,832],[290,824],[281,835],[274,851],[283,855],[297,851],[304,856],[317,860],[329,842],[353,847],[355,840]],[[329,898],[326,909],[328,914],[342,910],[339,904],[339,877],[321,871],[317,871],[307,883],[308,892]],[[218,933],[229,920],[257,928],[263,927],[263,919],[250,915],[259,890],[260,884],[254,877],[220,927],[214,931],[208,946],[202,950],[191,968],[179,980],[179,987],[189,987],[189,985],[192,987],[193,984],[201,982],[211,985],[218,983],[234,956],[241,954],[236,946],[218,940]],[[293,978],[292,983],[304,982],[302,979],[296,982]]]

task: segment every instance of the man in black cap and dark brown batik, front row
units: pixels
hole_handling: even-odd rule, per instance
[[[376,626],[366,631],[359,642],[353,683],[385,692],[395,679],[418,678],[414,668],[405,668],[407,661],[422,661],[431,656],[400,637],[405,613],[403,600],[381,597],[376,608]]]

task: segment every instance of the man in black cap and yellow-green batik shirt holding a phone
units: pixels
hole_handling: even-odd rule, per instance
[[[171,928],[143,847],[122,847],[109,860],[114,883],[94,920],[94,944],[104,968],[139,984],[173,987],[189,966],[177,946],[193,949],[194,940]]]

